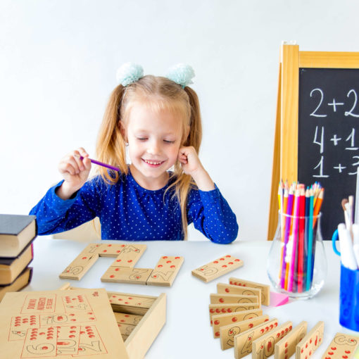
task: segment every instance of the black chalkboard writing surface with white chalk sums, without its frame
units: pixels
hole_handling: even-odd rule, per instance
[[[321,229],[344,222],[341,200],[355,195],[359,165],[359,70],[299,69],[298,181],[325,188]]]

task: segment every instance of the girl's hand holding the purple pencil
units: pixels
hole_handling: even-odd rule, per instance
[[[81,160],[80,156],[84,159]],[[68,153],[58,163],[58,170],[65,180],[56,191],[61,199],[69,199],[86,182],[91,170],[91,160],[88,157],[89,154],[80,147]]]

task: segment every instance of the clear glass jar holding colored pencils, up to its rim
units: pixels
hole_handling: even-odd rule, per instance
[[[321,213],[296,216],[279,212],[267,274],[275,289],[291,298],[312,298],[324,285],[327,259],[320,216]]]

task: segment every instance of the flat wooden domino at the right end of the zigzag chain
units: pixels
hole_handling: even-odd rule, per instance
[[[146,284],[153,286],[172,286],[184,261],[180,256],[162,256]]]

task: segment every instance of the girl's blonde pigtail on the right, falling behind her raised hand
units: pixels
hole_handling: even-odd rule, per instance
[[[199,148],[202,141],[202,122],[201,112],[199,109],[199,98],[190,87],[184,87],[184,91],[189,97],[189,104],[191,106],[191,117],[189,122],[189,135],[184,141],[184,146],[194,146],[196,152],[199,153]],[[168,189],[175,187],[175,196],[180,202],[181,217],[182,217],[182,230],[184,240],[187,240],[187,197],[191,189],[197,189],[196,183],[190,175],[186,175],[179,161],[175,164],[175,171],[173,173],[175,182],[173,182]]]

